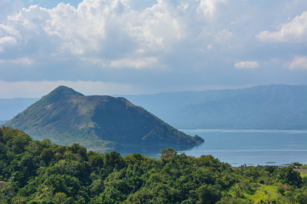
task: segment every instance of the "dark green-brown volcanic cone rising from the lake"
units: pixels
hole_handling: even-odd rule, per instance
[[[168,125],[123,97],[85,96],[59,86],[5,125],[35,139],[59,144],[79,142],[89,148],[118,144],[198,144],[204,140]]]

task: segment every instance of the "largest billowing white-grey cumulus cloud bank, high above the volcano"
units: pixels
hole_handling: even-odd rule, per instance
[[[147,57],[150,62],[152,55],[169,53],[177,43],[202,36],[200,31],[191,30],[195,24],[202,27],[214,17],[219,1],[158,0],[139,10],[132,9],[129,1],[124,0],[83,0],[78,7],[59,3],[52,9],[31,5],[0,24],[0,50],[17,46],[19,57],[44,53],[53,57],[103,56],[112,61],[113,67],[117,67],[115,61],[127,55],[131,59],[125,60],[130,65],[134,58]],[[190,25],[190,20],[194,24]],[[143,65],[132,65],[140,66]]]

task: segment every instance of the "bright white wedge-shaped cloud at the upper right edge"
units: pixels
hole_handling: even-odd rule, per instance
[[[264,30],[257,34],[256,38],[264,42],[306,42],[307,11],[297,15],[292,21],[281,24],[278,31]]]

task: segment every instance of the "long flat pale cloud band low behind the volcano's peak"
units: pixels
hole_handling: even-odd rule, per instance
[[[85,95],[133,94],[130,84],[103,81],[3,81],[0,80],[0,98],[42,97],[59,85],[66,85]]]

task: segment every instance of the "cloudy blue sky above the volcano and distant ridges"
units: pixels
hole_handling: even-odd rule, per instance
[[[0,0],[0,98],[307,84],[306,0]]]

